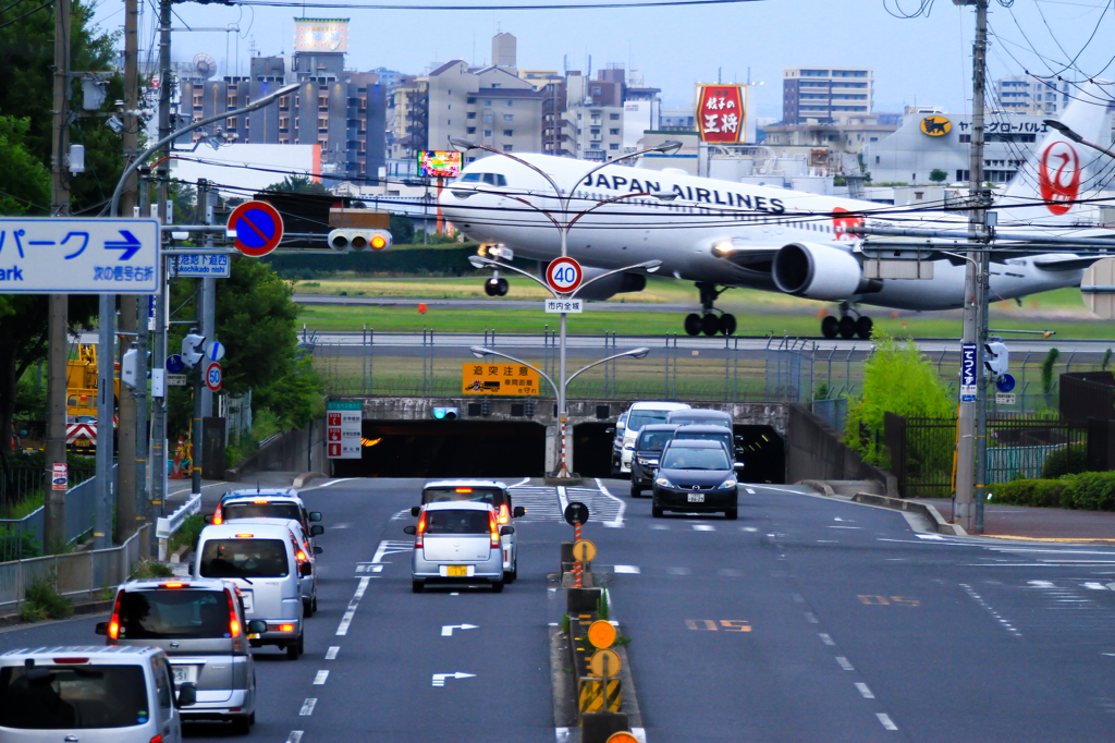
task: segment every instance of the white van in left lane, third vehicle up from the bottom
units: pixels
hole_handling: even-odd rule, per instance
[[[278,645],[291,660],[304,646],[301,568],[297,539],[285,523],[256,520],[210,525],[197,539],[195,578],[223,578],[240,587],[244,615],[268,623],[268,631],[254,634],[252,647]]]

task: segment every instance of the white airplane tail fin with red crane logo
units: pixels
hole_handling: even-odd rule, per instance
[[[1058,119],[1084,139],[1106,146],[1109,84],[1088,81],[1073,94]],[[1039,135],[1041,136],[1041,135]],[[996,201],[1002,225],[1069,226],[1093,216],[1096,206],[1078,203],[1094,196],[1112,176],[1115,160],[1078,144],[1051,126]]]

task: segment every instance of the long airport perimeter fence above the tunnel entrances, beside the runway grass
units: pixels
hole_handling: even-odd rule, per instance
[[[376,332],[317,334],[304,330],[302,348],[332,395],[458,396],[462,365],[473,363],[472,346],[485,346],[522,359],[558,378],[559,338],[540,335]],[[959,344],[956,350],[922,353],[951,394],[957,393]],[[815,412],[837,431],[843,428],[846,402],[862,390],[864,365],[874,350],[870,341],[834,344],[802,338],[570,336],[566,369],[578,369],[610,355],[637,347],[650,349],[643,359],[621,358],[580,375],[569,387],[571,399],[686,399],[695,402],[822,403]],[[1054,367],[1054,383],[1043,388],[1044,354],[1012,357],[1015,402],[988,396],[992,415],[1057,409],[1060,373],[1095,368],[1077,354],[1065,354]],[[502,359],[492,358],[493,361]],[[541,397],[554,393],[543,380]],[[832,413],[826,417],[828,409]],[[838,424],[838,425],[837,425]]]

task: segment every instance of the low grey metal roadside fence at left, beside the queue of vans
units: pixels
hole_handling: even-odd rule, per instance
[[[147,558],[145,524],[119,547],[70,554],[51,554],[29,560],[0,562],[0,611],[19,611],[27,589],[36,581],[49,581],[62,596],[83,598],[100,594],[132,576],[140,559]]]

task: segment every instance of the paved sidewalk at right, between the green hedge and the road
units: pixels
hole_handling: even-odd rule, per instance
[[[946,521],[952,520],[952,501],[949,499],[911,500],[932,505]],[[983,533],[1005,539],[1115,542],[1115,513],[989,503],[983,506]]]

